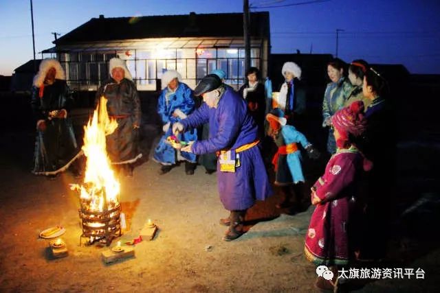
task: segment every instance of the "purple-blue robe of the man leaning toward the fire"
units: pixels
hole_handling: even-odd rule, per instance
[[[217,108],[203,103],[188,118],[181,121],[185,129],[209,122],[209,138],[192,145],[195,154],[219,150],[235,150],[259,139],[254,119],[248,113],[244,99],[227,87]],[[220,200],[229,211],[245,210],[255,200],[265,200],[272,194],[259,146],[239,152],[240,166],[235,172],[221,172],[217,161],[217,185]]]

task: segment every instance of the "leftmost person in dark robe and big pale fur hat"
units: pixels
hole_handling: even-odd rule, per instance
[[[31,106],[36,118],[36,143],[32,173],[55,178],[80,156],[69,118],[74,100],[60,62],[45,59],[34,77]],[[80,167],[72,165],[80,176]]]

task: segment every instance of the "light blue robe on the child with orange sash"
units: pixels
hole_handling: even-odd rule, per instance
[[[283,134],[286,145],[290,143],[301,143],[301,145],[303,145],[303,148],[309,145],[309,141],[307,141],[305,135],[296,130],[294,126],[283,126],[283,128],[281,128],[281,134]],[[301,166],[300,150],[287,154],[287,165],[289,166],[290,174],[292,174],[294,183],[298,183],[300,181],[305,182],[303,167]]]

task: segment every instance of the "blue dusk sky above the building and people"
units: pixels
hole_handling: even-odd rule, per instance
[[[272,53],[336,54],[347,62],[403,64],[411,73],[440,74],[439,0],[250,0],[269,11]],[[33,0],[36,51],[53,46],[52,32],[66,34],[92,17],[241,12],[242,0]],[[262,6],[283,6],[261,9]],[[32,59],[29,0],[0,0],[0,74]],[[225,20],[227,21],[227,20]],[[221,25],[221,23],[219,23]],[[41,56],[41,55],[40,55]],[[40,57],[39,56],[39,57]]]

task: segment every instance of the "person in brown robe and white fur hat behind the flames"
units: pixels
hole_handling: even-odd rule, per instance
[[[96,103],[104,96],[107,99],[109,117],[118,122],[118,128],[106,137],[111,163],[131,177],[133,164],[142,158],[139,148],[142,117],[140,99],[124,60],[111,58],[109,71],[111,78],[98,89]]]

